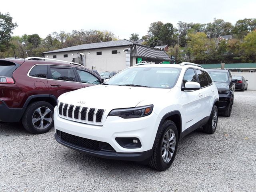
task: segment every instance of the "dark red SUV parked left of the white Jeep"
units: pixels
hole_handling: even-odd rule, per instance
[[[58,96],[103,82],[80,64],[38,59],[0,59],[0,121],[22,120],[24,128],[34,134],[54,126]]]

